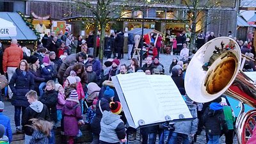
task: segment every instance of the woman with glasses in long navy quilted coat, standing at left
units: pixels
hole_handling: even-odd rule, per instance
[[[16,131],[21,132],[20,111],[22,111],[21,124],[24,127],[23,117],[25,109],[29,106],[28,99],[25,95],[29,90],[35,89],[34,77],[29,72],[29,65],[26,60],[20,61],[19,67],[15,70],[9,85],[13,92],[12,105],[15,107],[14,120]]]

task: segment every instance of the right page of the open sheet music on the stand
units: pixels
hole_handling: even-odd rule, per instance
[[[163,109],[163,116],[168,115],[171,119],[179,119],[179,115],[184,118],[192,118],[188,106],[180,95],[179,89],[172,80],[172,77],[166,75],[147,76],[148,81],[156,93],[157,100]]]

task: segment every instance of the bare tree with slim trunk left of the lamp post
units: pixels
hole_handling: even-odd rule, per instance
[[[138,8],[134,1],[115,1],[115,0],[72,0],[77,10],[82,13],[84,10],[92,12],[92,19],[95,22],[95,26],[100,30],[100,48],[99,48],[99,60],[103,61],[104,51],[104,38],[106,35],[106,26],[108,22],[116,20],[122,15],[125,15],[125,10],[131,10]],[[135,7],[134,7],[135,6]],[[86,15],[86,13],[84,13]]]

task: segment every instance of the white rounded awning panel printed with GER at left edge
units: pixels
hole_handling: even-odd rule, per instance
[[[0,18],[0,37],[16,35],[16,26],[14,26],[12,22]]]

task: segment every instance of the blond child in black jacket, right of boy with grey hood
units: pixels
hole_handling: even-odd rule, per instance
[[[54,90],[55,83],[54,81],[50,80],[46,83],[46,92],[40,97],[40,102],[45,104],[48,108],[48,111],[51,115],[51,119],[56,123],[57,122],[57,100],[58,100],[58,93]]]

